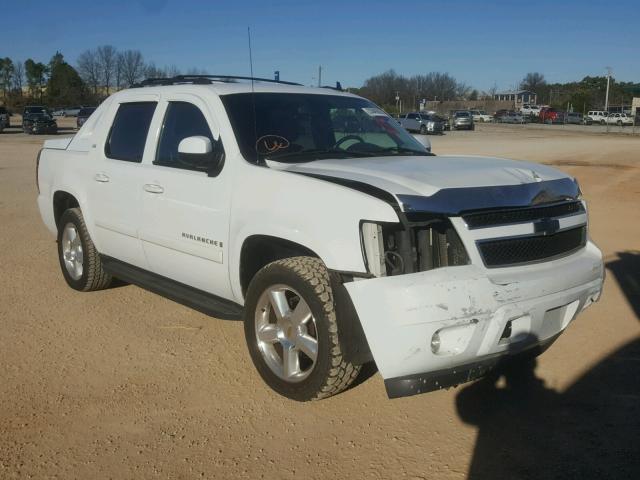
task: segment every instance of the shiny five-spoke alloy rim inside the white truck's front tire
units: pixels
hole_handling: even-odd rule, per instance
[[[287,382],[307,378],[318,358],[316,320],[304,298],[287,285],[267,288],[256,305],[258,349],[278,377]]]

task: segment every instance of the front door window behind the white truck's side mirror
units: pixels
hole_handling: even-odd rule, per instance
[[[211,140],[215,150],[215,140],[207,124],[207,120],[198,107],[188,102],[169,102],[164,117],[160,143],[155,165],[197,170],[180,162],[178,145],[187,137],[203,136]]]

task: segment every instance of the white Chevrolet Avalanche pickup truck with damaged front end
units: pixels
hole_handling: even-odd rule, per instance
[[[117,277],[242,319],[257,371],[295,400],[371,361],[391,398],[473,380],[543,351],[602,289],[574,178],[432,155],[339,91],[143,82],[46,141],[37,185],[70,287]]]

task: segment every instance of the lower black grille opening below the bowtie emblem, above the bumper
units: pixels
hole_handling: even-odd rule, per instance
[[[587,239],[585,226],[554,235],[517,237],[478,242],[480,255],[488,268],[550,260],[582,248]]]

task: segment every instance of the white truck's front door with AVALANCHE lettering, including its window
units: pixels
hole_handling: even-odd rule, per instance
[[[163,98],[155,154],[144,167],[140,238],[154,273],[230,298],[227,269],[230,173],[216,176],[181,163],[178,145],[208,137],[223,151],[207,102],[195,95]],[[145,160],[146,162],[146,160]]]

